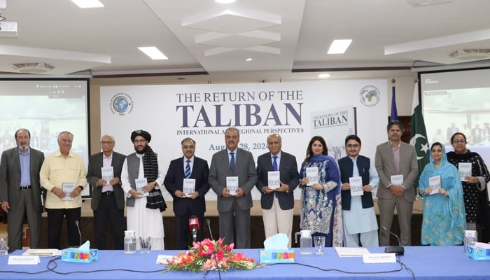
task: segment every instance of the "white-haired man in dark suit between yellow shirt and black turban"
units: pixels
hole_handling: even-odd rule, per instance
[[[121,171],[126,156],[113,151],[115,144],[114,137],[104,135],[100,139],[102,152],[91,155],[88,160],[87,181],[92,186],[91,207],[94,211],[95,240],[99,250],[107,249],[108,224],[112,228],[113,248],[124,248],[124,191],[121,188]]]

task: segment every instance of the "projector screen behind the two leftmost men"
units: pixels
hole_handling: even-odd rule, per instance
[[[73,133],[72,151],[89,151],[87,79],[0,79],[0,153],[15,147],[19,128],[31,132],[31,147],[48,155],[57,151],[57,134]],[[90,188],[83,195],[90,196]]]

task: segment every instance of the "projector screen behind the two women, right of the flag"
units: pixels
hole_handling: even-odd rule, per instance
[[[421,104],[428,141],[450,143],[465,134],[470,151],[490,164],[490,69],[419,73]]]

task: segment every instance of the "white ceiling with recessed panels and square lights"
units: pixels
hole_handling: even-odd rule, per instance
[[[7,0],[1,15],[18,22],[18,38],[0,37],[0,71],[40,62],[57,76],[294,80],[325,71],[349,78],[356,70],[393,76],[411,66],[454,66],[468,60],[451,52],[490,49],[488,0],[100,1],[104,8],[80,9],[69,0]],[[353,39],[344,55],[327,55],[335,38]],[[169,59],[137,49],[151,45]]]

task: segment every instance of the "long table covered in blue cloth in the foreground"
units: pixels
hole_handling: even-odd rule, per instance
[[[370,247],[371,253],[381,253],[382,247]],[[258,249],[237,250],[258,260]],[[20,255],[23,251],[15,251]],[[0,257],[0,279],[220,279],[218,272],[165,272],[165,265],[156,264],[158,254],[176,255],[178,251],[151,251],[125,255],[123,251],[99,251],[99,261],[90,264],[62,262],[56,260],[48,271],[45,270],[51,258],[42,258],[40,265],[7,265],[8,256]],[[324,255],[300,255],[295,252],[295,264],[267,265],[252,270],[233,270],[221,272],[221,279],[490,279],[490,260],[470,260],[463,255],[462,246],[408,246],[400,263],[365,264],[362,258],[339,258],[334,248],[325,248]],[[304,265],[309,265],[306,267]],[[322,269],[338,269],[322,271]],[[113,270],[112,270],[113,269]],[[130,272],[127,269],[144,272]],[[99,270],[99,272],[93,272]],[[340,272],[342,270],[344,272]],[[23,272],[21,274],[15,272]],[[70,273],[74,272],[74,273]],[[350,273],[349,273],[350,272]],[[65,274],[70,273],[70,274]]]

